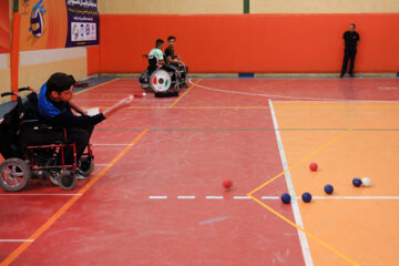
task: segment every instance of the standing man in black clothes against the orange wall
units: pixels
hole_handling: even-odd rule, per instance
[[[354,76],[354,68],[355,68],[355,57],[357,51],[357,42],[359,41],[359,33],[355,31],[356,25],[354,23],[350,24],[349,30],[344,33],[344,44],[345,44],[345,54],[342,62],[342,70],[339,78],[342,78],[348,69],[349,64],[349,75]]]

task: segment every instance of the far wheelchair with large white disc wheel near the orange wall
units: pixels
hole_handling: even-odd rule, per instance
[[[155,96],[162,96],[166,94],[178,95],[178,90],[182,85],[186,84],[183,79],[185,68],[176,68],[172,64],[164,64],[158,66],[158,60],[155,57],[142,55],[147,59],[149,66],[142,72],[139,78],[139,83],[142,89],[154,92]]]

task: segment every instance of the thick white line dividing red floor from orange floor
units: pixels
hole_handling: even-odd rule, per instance
[[[272,102],[270,99],[268,100],[268,103],[269,103],[269,106],[270,106],[272,120],[273,120],[273,125],[275,127],[275,133],[276,133],[276,139],[277,139],[277,144],[278,144],[278,151],[279,151],[279,154],[280,154],[283,168],[284,168],[284,171],[287,171],[288,170],[287,157],[286,157],[285,152],[284,152],[283,140],[282,140],[282,136],[280,136],[279,131],[278,131],[277,117],[276,117],[276,114],[274,112],[273,102]],[[290,178],[289,171],[287,171],[285,173],[285,178],[286,178],[288,192],[293,196],[291,207],[293,207],[295,223],[299,227],[305,228],[304,223],[303,223],[301,217],[300,217],[300,212],[299,212],[298,203],[296,201],[294,185],[293,185],[293,181]],[[304,232],[299,231],[298,228],[297,228],[297,232],[298,232],[298,236],[299,236],[301,250],[303,250],[303,254],[304,254],[305,265],[306,266],[313,266],[314,263],[313,263],[313,259],[311,259],[309,244],[307,242],[306,234]]]

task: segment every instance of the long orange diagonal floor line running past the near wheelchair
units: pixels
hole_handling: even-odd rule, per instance
[[[132,144],[135,145],[146,133],[149,129],[142,131],[133,141]],[[84,195],[86,191],[90,190],[133,145],[126,146],[122,152],[120,152],[112,161],[110,166],[102,168],[85,186],[83,186],[78,194],[71,197],[62,207],[60,207],[51,217],[42,224],[28,239],[37,241],[43,233],[45,233],[81,196]],[[24,242],[18,246],[11,254],[9,254],[1,263],[0,266],[10,265],[13,263],[33,242]]]

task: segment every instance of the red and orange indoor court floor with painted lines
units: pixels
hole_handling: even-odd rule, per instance
[[[73,101],[139,92],[114,78]],[[136,98],[96,126],[74,191],[0,192],[0,265],[398,265],[398,79],[193,79]]]

